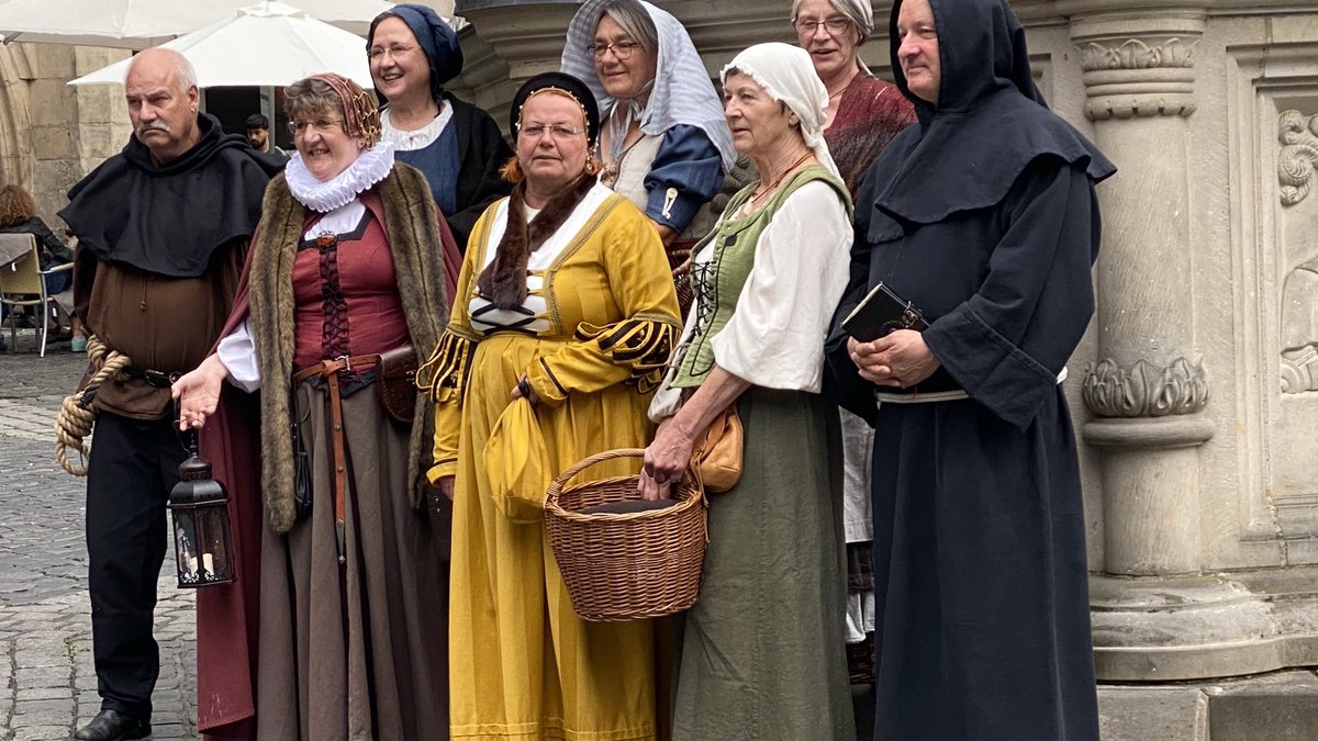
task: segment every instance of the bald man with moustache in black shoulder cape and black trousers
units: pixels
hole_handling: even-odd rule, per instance
[[[87,554],[100,713],[80,741],[150,736],[159,650],[156,580],[165,505],[185,458],[170,380],[215,343],[237,287],[273,160],[198,113],[196,74],[148,49],[124,82],[133,136],[69,191],[59,215],[78,236],[74,303],[87,331],[128,355],[107,381],[87,473]]]

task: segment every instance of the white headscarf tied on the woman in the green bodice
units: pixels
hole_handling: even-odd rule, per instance
[[[787,104],[801,120],[801,136],[805,137],[805,145],[815,152],[815,158],[830,173],[842,177],[828,150],[828,142],[824,141],[828,88],[815,71],[808,51],[776,41],[757,44],[733,57],[733,61],[718,73],[718,79],[725,84],[729,73],[750,75],[770,98]]]

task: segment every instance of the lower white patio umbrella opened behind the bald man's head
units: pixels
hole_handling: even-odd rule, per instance
[[[316,73],[339,73],[372,87],[366,40],[303,11],[268,1],[163,45],[187,57],[200,87],[285,86]],[[69,84],[124,83],[130,59]]]

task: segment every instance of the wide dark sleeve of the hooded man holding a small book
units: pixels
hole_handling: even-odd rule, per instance
[[[924,331],[938,363],[970,394],[1024,430],[1094,312],[1090,273],[1099,215],[1079,167],[1039,158],[1004,200],[1007,229],[979,290]]]

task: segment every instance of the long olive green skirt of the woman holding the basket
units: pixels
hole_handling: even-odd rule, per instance
[[[851,741],[837,410],[818,394],[751,388],[738,411],[745,467],[710,496],[673,740]]]

